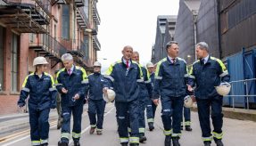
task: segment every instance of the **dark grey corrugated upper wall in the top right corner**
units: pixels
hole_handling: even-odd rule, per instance
[[[253,4],[254,8],[250,6],[248,7],[248,9],[250,8],[250,10],[245,11],[245,8],[243,7],[246,5],[248,6],[248,4]],[[241,8],[238,8],[237,6]],[[240,52],[243,47],[248,49],[256,45],[255,0],[240,1],[240,3],[232,4],[225,11],[227,12],[221,12],[220,14],[220,25],[222,34],[221,58]],[[237,16],[237,20],[236,14],[239,14],[239,16]],[[229,19],[229,17],[232,18]],[[234,22],[235,24],[230,24],[231,22]],[[232,28],[229,28],[230,26]]]

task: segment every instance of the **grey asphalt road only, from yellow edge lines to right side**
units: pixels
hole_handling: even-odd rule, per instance
[[[146,131],[148,141],[144,146],[162,146],[164,141],[164,135],[162,134],[161,114],[160,109],[157,110],[155,130],[153,132]],[[198,122],[197,113],[192,113],[192,127],[193,132],[183,131],[182,138],[180,140],[182,146],[202,146],[201,130]],[[104,118],[104,130],[103,135],[98,136],[96,134],[90,135],[89,121],[87,112],[84,112],[83,116],[83,131],[81,137],[82,146],[119,146],[117,124],[115,118],[115,108],[113,104],[108,104],[106,107],[106,113]],[[225,138],[223,142],[226,146],[255,146],[256,145],[256,123],[252,121],[243,121],[225,118],[224,123]],[[16,134],[10,134],[0,145],[3,146],[29,146],[29,129]],[[51,123],[50,130],[50,146],[57,145],[60,140],[60,131],[56,129],[56,121]],[[72,145],[72,142],[70,142]],[[215,144],[212,144],[215,145]]]

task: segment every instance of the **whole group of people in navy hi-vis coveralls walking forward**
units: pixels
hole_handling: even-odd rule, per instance
[[[113,90],[121,146],[138,146],[147,140],[145,123],[147,121],[149,130],[153,131],[155,111],[160,101],[164,145],[179,146],[183,127],[192,131],[190,109],[184,107],[186,95],[197,102],[204,145],[210,146],[214,139],[218,146],[223,146],[222,95],[217,93],[215,86],[228,82],[229,75],[223,62],[210,56],[205,42],[198,43],[195,49],[198,60],[190,71],[186,61],[178,57],[178,43],[175,41],[166,45],[167,57],[156,65],[149,62],[146,67],[140,64],[139,53],[127,45],[122,50],[121,60],[112,63],[104,75],[100,62],[95,61],[94,72],[87,76],[85,69],[74,64],[72,55],[64,53],[64,68],[57,70],[52,77],[46,73],[48,62],[45,58],[35,58],[35,72],[25,78],[18,101],[21,108],[29,96],[32,145],[48,145],[49,113],[56,107],[59,114],[57,128],[62,129],[58,145],[68,146],[70,136],[75,146],[81,145],[82,113],[86,102],[91,125],[89,133],[102,135],[106,105],[103,95]]]

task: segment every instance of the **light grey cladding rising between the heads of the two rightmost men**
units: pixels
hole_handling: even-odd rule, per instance
[[[183,0],[179,2],[174,40],[178,42],[179,57],[186,60],[187,64],[192,64],[194,62],[194,22],[193,15]]]

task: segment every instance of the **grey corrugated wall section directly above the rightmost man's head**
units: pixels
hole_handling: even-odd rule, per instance
[[[197,42],[206,42],[210,54],[219,58],[218,12],[216,0],[202,0],[197,18]]]

